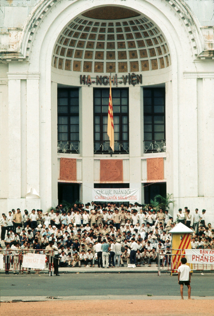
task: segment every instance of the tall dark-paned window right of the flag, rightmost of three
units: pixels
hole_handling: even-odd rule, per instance
[[[163,151],[165,146],[165,88],[143,89],[144,150]]]

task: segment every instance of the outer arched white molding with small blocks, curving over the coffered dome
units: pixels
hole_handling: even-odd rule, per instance
[[[74,3],[79,3],[79,0],[72,0],[69,2],[63,2],[63,8],[64,9],[69,9],[69,7],[71,5],[73,5]],[[108,3],[104,3],[102,2],[101,4],[101,0],[98,1],[94,1],[93,2],[93,6],[100,6],[100,5],[108,5]],[[130,7],[130,8],[135,8],[136,10],[138,10],[137,8],[139,7],[138,5],[134,6],[131,5],[132,1],[127,1],[125,3],[122,3],[122,1],[118,1],[117,3],[113,2],[109,2],[109,4],[114,4],[114,5],[122,5],[123,7]],[[23,32],[22,32],[22,36],[20,39],[20,43],[19,43],[19,49],[18,52],[21,53],[21,55],[25,58],[25,57],[29,57],[30,52],[31,52],[31,47],[32,47],[32,43],[33,43],[33,39],[35,37],[35,34],[37,33],[38,29],[41,26],[42,21],[44,21],[44,19],[46,17],[48,17],[48,15],[50,15],[50,12],[54,9],[54,7],[57,6],[59,3],[62,3],[62,0],[42,0],[41,2],[39,2],[37,4],[37,6],[35,7],[35,9],[33,10],[33,12],[31,13],[31,15],[29,16],[24,28],[23,28]],[[96,3],[96,4],[95,4]],[[133,4],[136,3],[136,1],[133,2]],[[184,3],[184,1],[182,0],[163,0],[160,3],[153,3],[153,1],[139,1],[139,4],[145,4],[146,3],[151,3],[152,6],[158,8],[160,10],[160,12],[162,12],[165,15],[165,10],[164,8],[167,6],[170,8],[170,10],[172,10],[174,12],[174,14],[176,15],[177,19],[179,19],[179,21],[181,22],[181,25],[183,26],[183,28],[185,29],[185,32],[189,38],[190,44],[191,44],[191,49],[193,52],[193,57],[195,58],[196,56],[198,56],[200,54],[200,52],[203,51],[203,47],[204,47],[204,41],[203,41],[203,36],[201,34],[200,28],[199,28],[199,23],[197,21],[197,19],[193,16],[193,13],[191,12],[191,10],[188,8],[187,4]],[[85,8],[87,6],[89,6],[89,9],[91,9],[91,2],[88,1],[84,2],[84,11]],[[88,5],[87,5],[88,4]],[[125,5],[124,5],[125,4]],[[82,12],[83,10],[81,9],[80,12]],[[143,13],[143,12],[142,12]],[[167,14],[166,14],[167,15]],[[19,56],[20,57],[20,56]]]

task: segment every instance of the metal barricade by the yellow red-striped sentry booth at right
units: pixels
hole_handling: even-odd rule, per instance
[[[176,251],[175,253],[172,253]],[[181,264],[181,258],[186,257],[185,249],[169,249],[170,253],[164,253],[161,255],[161,252],[158,253],[158,276],[161,272],[171,272],[177,273],[177,269]],[[187,263],[190,266],[191,271],[213,271],[214,264],[193,264]]]

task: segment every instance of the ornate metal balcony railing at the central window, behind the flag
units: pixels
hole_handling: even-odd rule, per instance
[[[110,142],[94,142],[94,154],[128,154],[128,142],[115,142],[115,150],[111,151]]]

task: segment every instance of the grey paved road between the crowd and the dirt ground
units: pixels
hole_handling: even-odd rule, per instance
[[[0,284],[1,296],[180,295],[177,276],[168,274],[1,275]],[[214,274],[195,274],[191,286],[192,296],[212,296]]]

